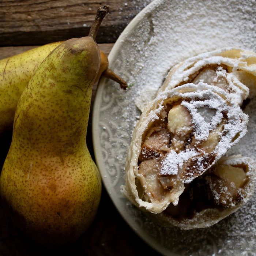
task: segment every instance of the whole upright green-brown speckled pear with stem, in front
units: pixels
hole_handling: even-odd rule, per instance
[[[86,132],[101,64],[95,37],[108,8],[98,9],[88,37],[69,39],[45,58],[16,108],[1,198],[20,229],[47,247],[74,242],[100,201],[101,177]]]

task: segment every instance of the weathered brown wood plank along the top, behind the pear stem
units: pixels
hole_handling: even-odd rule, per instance
[[[88,34],[97,8],[110,5],[97,36],[98,43],[113,43],[152,0],[2,0],[0,46],[42,45]]]

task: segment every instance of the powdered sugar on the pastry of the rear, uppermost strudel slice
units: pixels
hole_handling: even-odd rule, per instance
[[[181,63],[180,65],[174,66],[174,72],[171,70],[171,79],[169,80],[169,76],[167,76],[167,83],[164,83],[164,85],[161,87],[160,91],[172,89],[173,87],[177,86],[179,83],[199,83],[199,82],[208,82],[211,84],[212,82],[215,84],[219,84],[219,87],[227,87],[227,90],[230,91],[230,97],[233,98],[233,101],[236,102],[238,105],[241,104],[241,102],[248,97],[249,95],[249,89],[240,82],[240,80],[237,78],[236,70],[242,69],[249,73],[255,73],[256,72],[256,65],[253,63],[255,61],[256,56],[255,53],[248,52],[243,53],[240,52],[241,49],[233,49],[233,48],[225,48],[220,50],[215,50],[212,52],[206,52],[199,54],[198,56],[188,58],[184,61],[184,63]],[[235,52],[233,53],[233,56],[231,53],[228,52]],[[219,54],[219,55],[218,55]],[[229,54],[229,57],[222,56],[222,54]],[[237,55],[241,54],[241,56],[244,56],[244,59],[242,57],[238,58]],[[252,60],[250,60],[252,58]],[[248,62],[247,62],[248,61]],[[232,68],[232,72],[227,73],[225,69],[223,69],[221,66],[217,67],[216,71],[209,69],[208,74],[207,71],[203,73],[202,78],[199,76],[199,78],[196,78],[194,81],[190,80],[189,77],[192,74],[196,74],[202,67],[207,67],[207,65],[227,65],[228,67]],[[214,74],[211,74],[214,73]],[[169,75],[169,74],[168,74]],[[210,79],[209,76],[212,78]],[[227,81],[227,84],[225,83]],[[142,94],[139,95],[136,99],[136,105],[140,110],[143,111],[143,108],[145,107],[145,101],[143,100],[144,97],[146,97],[148,100],[153,99],[154,96],[152,94],[152,88],[149,90],[150,94]],[[254,89],[255,90],[255,89]],[[144,92],[143,92],[144,93]],[[157,91],[155,91],[155,94]]]

